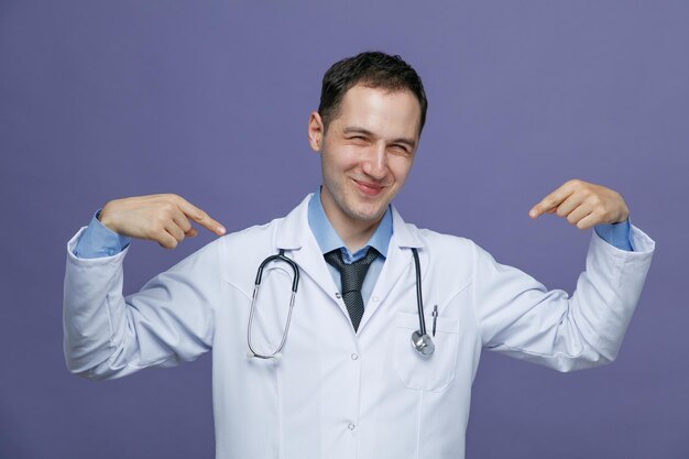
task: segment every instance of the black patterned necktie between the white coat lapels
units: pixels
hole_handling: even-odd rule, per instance
[[[340,278],[342,281],[342,299],[344,299],[344,305],[347,306],[349,318],[354,326],[354,331],[359,329],[359,323],[361,321],[361,317],[363,317],[361,286],[363,285],[363,280],[369,272],[369,266],[371,266],[371,263],[376,256],[378,251],[370,248],[363,259],[358,260],[352,264],[346,264],[342,261],[342,251],[340,249],[325,254],[326,261],[337,267],[340,272]]]

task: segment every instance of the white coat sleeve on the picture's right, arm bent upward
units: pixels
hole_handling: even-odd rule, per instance
[[[613,361],[638,302],[654,241],[632,227],[634,252],[595,233],[571,297],[474,253],[473,304],[484,349],[572,371]]]

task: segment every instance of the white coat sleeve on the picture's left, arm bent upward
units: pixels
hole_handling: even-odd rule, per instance
[[[81,230],[83,231],[83,230]],[[122,262],[79,259],[67,244],[63,328],[67,368],[91,378],[120,378],[146,367],[172,367],[208,351],[220,298],[218,240],[122,295]]]

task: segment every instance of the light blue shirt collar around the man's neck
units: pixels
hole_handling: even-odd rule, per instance
[[[332,225],[330,225],[326,211],[322,208],[322,203],[320,201],[320,187],[308,203],[308,226],[316,238],[321,253],[326,254],[332,250],[341,249],[344,263],[351,263],[363,258],[369,247],[378,250],[383,258],[387,258],[387,247],[390,245],[390,239],[393,233],[392,210],[390,206],[387,206],[385,215],[383,215],[381,222],[367,242],[367,245],[354,253],[351,253],[349,249],[344,247],[344,242],[342,242],[342,239],[340,239],[335,228],[332,228]]]

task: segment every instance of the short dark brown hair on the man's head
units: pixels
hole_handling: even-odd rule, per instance
[[[422,117],[418,134],[426,123],[428,101],[422,79],[409,64],[400,56],[391,56],[381,52],[365,52],[353,57],[343,58],[326,72],[320,89],[318,113],[325,129],[338,116],[340,102],[344,94],[357,85],[384,89],[389,91],[408,90],[418,100]]]

